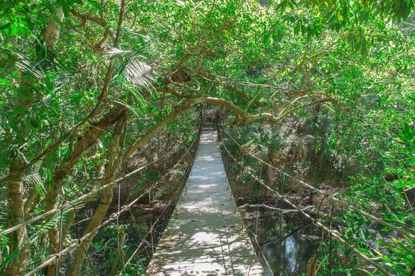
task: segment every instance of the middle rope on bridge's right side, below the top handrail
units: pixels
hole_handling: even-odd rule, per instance
[[[240,164],[240,162],[236,158],[234,158],[234,156],[230,153],[230,150],[228,150],[228,148],[226,148],[225,144],[222,143],[221,146],[223,146],[223,148],[225,149],[225,152],[228,153],[228,155],[235,161],[235,163],[237,163],[239,166],[242,166]],[[274,193],[274,195],[276,195],[279,199],[281,199],[282,201],[284,201],[286,204],[290,205],[291,207],[295,208],[295,210],[297,210],[300,214],[302,214],[307,219],[311,220],[313,222],[313,224],[315,224],[316,226],[319,226],[320,228],[322,228],[323,230],[325,230],[327,233],[329,233],[331,235],[331,237],[333,237],[334,239],[338,240],[338,242],[340,242],[344,246],[347,246],[347,248],[349,248],[354,253],[356,253],[356,255],[358,255],[359,257],[361,257],[362,259],[364,259],[366,262],[368,262],[369,264],[371,264],[372,266],[374,266],[375,268],[377,268],[379,271],[381,271],[385,275],[387,275],[387,276],[393,276],[391,273],[389,273],[388,270],[386,270],[385,268],[383,268],[382,266],[380,266],[379,264],[377,264],[376,262],[374,262],[373,259],[370,259],[367,255],[361,253],[360,250],[358,250],[356,247],[354,247],[353,245],[351,245],[348,242],[346,242],[346,240],[344,240],[342,237],[340,237],[340,235],[338,235],[338,232],[327,228],[320,221],[318,221],[317,219],[314,219],[313,217],[311,217],[310,215],[308,215],[307,213],[305,213],[304,210],[302,210],[301,208],[299,208],[298,206],[296,206],[295,204],[293,204],[291,201],[289,201],[288,199],[286,199],[285,197],[283,197],[282,195],[280,195],[273,188],[270,188],[268,185],[264,184],[263,181],[261,181],[260,179],[258,179],[255,175],[252,175],[252,173],[248,172],[248,174],[251,177],[253,177],[255,180],[257,180],[259,182],[259,184],[261,184],[262,186],[265,186],[268,190],[272,191]]]

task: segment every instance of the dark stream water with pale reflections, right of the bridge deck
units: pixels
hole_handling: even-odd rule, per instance
[[[257,255],[266,275],[272,275],[270,270],[275,276],[293,275],[294,270],[294,275],[302,275],[321,238],[320,228],[298,214],[282,218],[266,215],[259,221],[258,227],[256,219],[248,220],[248,226],[253,233],[257,233],[260,246]],[[308,239],[304,243],[307,234]]]

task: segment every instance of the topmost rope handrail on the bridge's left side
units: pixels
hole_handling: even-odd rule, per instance
[[[185,140],[181,141],[181,143],[179,145],[183,144],[184,141]],[[156,163],[156,161],[158,161],[161,158],[165,157],[169,153],[170,152],[167,152],[165,155],[163,155],[162,157],[159,157],[157,160],[151,161],[150,163],[147,163],[144,166],[141,166],[140,168],[137,168],[136,170],[133,170],[132,172],[128,173],[127,175],[124,175],[123,177],[120,177],[120,178],[118,178],[114,181],[111,181],[109,184],[101,186],[100,188],[92,190],[91,192],[86,193],[85,195],[77,197],[76,199],[73,199],[73,201],[68,201],[65,204],[62,204],[62,206],[59,206],[57,208],[53,208],[52,210],[48,210],[48,212],[42,213],[42,215],[37,215],[36,217],[33,217],[32,219],[28,219],[27,221],[24,221],[21,224],[17,224],[16,226],[13,226],[11,228],[3,230],[3,231],[0,232],[0,237],[4,236],[4,235],[8,235],[8,234],[14,232],[15,230],[19,230],[20,228],[22,228],[24,226],[28,226],[29,224],[32,224],[33,222],[38,221],[39,219],[43,219],[43,218],[47,217],[48,215],[53,215],[53,214],[59,212],[60,210],[64,210],[65,208],[71,206],[71,204],[77,204],[78,202],[82,201],[82,199],[85,199],[86,197],[90,197],[91,195],[95,195],[96,193],[100,192],[101,190],[104,190],[105,188],[115,186],[116,184],[118,184],[118,182],[120,182],[124,179],[127,179],[128,177],[131,177],[131,175],[135,175],[137,172],[140,172],[140,170],[143,170],[143,169],[147,168],[148,166],[151,166],[151,164]]]

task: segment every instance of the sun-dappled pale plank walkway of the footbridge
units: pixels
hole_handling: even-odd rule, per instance
[[[223,169],[216,130],[203,130],[192,173],[146,275],[265,275]]]

